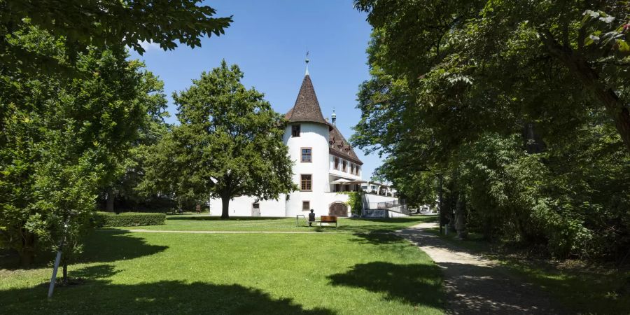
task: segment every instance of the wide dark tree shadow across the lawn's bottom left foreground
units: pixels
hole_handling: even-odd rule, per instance
[[[110,265],[80,269],[80,286],[0,291],[0,314],[335,314],[323,308],[304,309],[291,299],[274,299],[255,288],[237,284],[159,281],[111,284],[102,278],[116,274]]]

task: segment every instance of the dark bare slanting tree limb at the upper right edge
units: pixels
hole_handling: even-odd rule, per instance
[[[601,82],[599,75],[584,57],[573,52],[570,47],[564,47],[554,40],[548,30],[539,33],[542,42],[547,46],[549,54],[564,64],[573,76],[582,82],[584,90],[591,92],[595,99],[606,109],[608,115],[615,122],[617,132],[621,136],[626,149],[630,151],[630,110],[619,100],[615,91]]]

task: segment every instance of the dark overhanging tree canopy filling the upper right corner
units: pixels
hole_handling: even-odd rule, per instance
[[[630,151],[626,1],[355,5],[374,27],[370,63],[407,80],[428,119],[449,119],[443,128],[451,139],[503,133],[528,121],[572,124],[596,106]]]

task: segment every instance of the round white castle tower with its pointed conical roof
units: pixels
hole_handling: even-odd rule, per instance
[[[286,198],[286,216],[307,214],[309,209],[314,209],[318,216],[328,214],[323,194],[330,191],[328,138],[331,126],[323,118],[308,69],[295,105],[285,117],[289,124],[284,132],[284,143],[295,163],[293,182],[299,187]]]

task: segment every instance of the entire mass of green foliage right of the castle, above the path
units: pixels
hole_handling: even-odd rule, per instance
[[[463,200],[486,238],[622,260],[627,2],[355,3],[374,31],[352,142],[386,156],[378,172],[409,204],[435,198],[441,174],[451,222]]]

